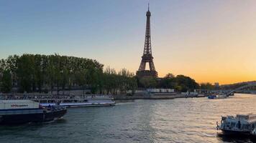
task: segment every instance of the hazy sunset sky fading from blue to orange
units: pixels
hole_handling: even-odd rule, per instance
[[[0,0],[0,58],[60,54],[137,71],[147,0]],[[160,77],[256,80],[255,0],[150,0]]]

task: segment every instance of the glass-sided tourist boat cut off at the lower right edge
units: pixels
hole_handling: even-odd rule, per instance
[[[254,134],[256,114],[237,114],[221,117],[221,124],[217,122],[216,129],[221,129],[224,134]],[[256,131],[256,129],[255,129]]]

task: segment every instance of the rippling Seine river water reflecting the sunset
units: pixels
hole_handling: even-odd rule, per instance
[[[221,115],[256,114],[255,104],[256,95],[235,94],[73,108],[58,122],[0,127],[0,142],[255,142],[215,129]]]

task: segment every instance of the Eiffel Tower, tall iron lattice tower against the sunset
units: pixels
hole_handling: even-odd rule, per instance
[[[152,49],[151,49],[151,36],[150,36],[150,5],[147,10],[147,24],[145,34],[145,45],[142,55],[142,61],[140,62],[139,70],[136,72],[137,77],[157,77],[157,71],[155,71],[155,65],[153,62]],[[150,70],[146,70],[146,64],[149,63]]]

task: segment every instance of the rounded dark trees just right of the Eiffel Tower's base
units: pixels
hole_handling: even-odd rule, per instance
[[[173,74],[167,74],[163,79],[157,78],[142,78],[139,80],[139,86],[144,88],[166,88],[175,89],[178,92],[192,92],[193,89],[199,89],[200,86],[191,77],[184,75],[174,76]]]

